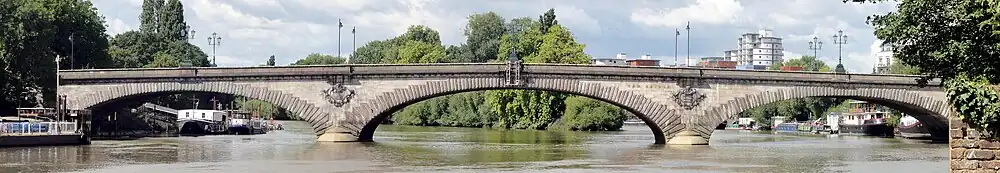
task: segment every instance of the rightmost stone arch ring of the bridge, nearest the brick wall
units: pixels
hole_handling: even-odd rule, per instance
[[[806,97],[861,100],[896,109],[926,124],[932,133],[938,133],[934,134],[935,136],[946,135],[947,116],[952,111],[946,100],[925,95],[921,91],[891,88],[788,87],[743,95],[708,108],[702,115],[709,118],[702,119],[699,127],[695,127],[695,131],[708,138],[719,123],[737,118],[740,112],[777,101]]]

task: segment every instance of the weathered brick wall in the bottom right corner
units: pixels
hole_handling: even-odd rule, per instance
[[[1000,172],[1000,142],[981,139],[978,131],[957,117],[952,117],[949,124],[951,172]]]

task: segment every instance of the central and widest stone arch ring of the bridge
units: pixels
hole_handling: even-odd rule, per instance
[[[657,144],[666,143],[667,139],[684,128],[680,123],[680,116],[675,115],[667,106],[616,87],[580,82],[576,79],[555,78],[531,79],[523,85],[509,86],[503,79],[495,77],[444,79],[378,94],[372,101],[362,103],[346,112],[346,120],[338,124],[356,132],[355,136],[359,141],[371,141],[375,129],[383,120],[410,104],[449,94],[499,89],[569,93],[616,105],[642,119],[655,135],[654,142]]]

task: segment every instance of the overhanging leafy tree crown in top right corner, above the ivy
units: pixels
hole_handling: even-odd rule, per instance
[[[881,0],[851,0],[880,2]],[[1000,82],[1000,5],[992,0],[906,0],[898,11],[869,17],[894,58],[935,77],[992,75]]]

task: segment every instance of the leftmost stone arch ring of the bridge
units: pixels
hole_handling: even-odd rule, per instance
[[[232,94],[270,102],[294,112],[296,116],[304,119],[312,125],[317,135],[323,134],[330,127],[329,116],[327,116],[329,111],[325,109],[281,91],[231,82],[122,84],[81,95],[75,102],[69,104],[73,104],[77,108],[92,109],[135,97],[185,92]]]

